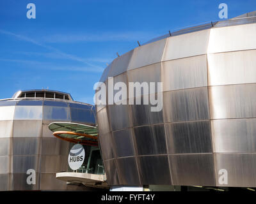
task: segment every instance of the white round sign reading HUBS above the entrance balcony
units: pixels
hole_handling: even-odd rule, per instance
[[[84,162],[84,148],[80,144],[76,144],[70,149],[68,154],[68,165],[72,170],[79,169]]]

